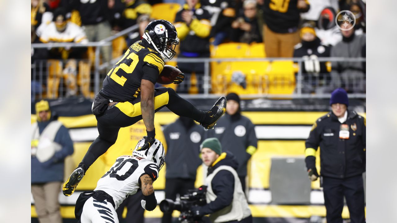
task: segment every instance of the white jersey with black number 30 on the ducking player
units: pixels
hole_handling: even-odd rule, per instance
[[[158,168],[153,162],[139,156],[120,156],[110,170],[99,179],[95,190],[103,190],[113,197],[116,209],[121,202],[139,189],[140,177],[158,178]]]

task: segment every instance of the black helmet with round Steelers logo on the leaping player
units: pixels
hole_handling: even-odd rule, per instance
[[[151,21],[142,37],[161,54],[163,59],[171,60],[175,56],[175,47],[179,44],[179,38],[175,27],[169,21],[164,19]]]

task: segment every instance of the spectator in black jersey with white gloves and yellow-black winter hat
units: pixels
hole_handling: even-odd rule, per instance
[[[321,44],[320,38],[316,36],[314,24],[304,23],[301,28],[302,42],[295,45],[294,57],[303,58],[300,67],[303,75],[304,93],[320,93],[330,82],[330,62],[319,62],[320,57],[330,57],[330,47]],[[297,79],[297,78],[296,78]],[[297,79],[298,81],[298,79]]]

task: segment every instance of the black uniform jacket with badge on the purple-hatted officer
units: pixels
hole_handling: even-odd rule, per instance
[[[336,115],[329,112],[314,123],[306,140],[306,152],[308,148],[317,150],[320,146],[321,175],[326,177],[343,179],[365,171],[365,118],[355,111],[347,111],[343,124],[349,127],[349,139],[339,138],[341,124]],[[306,166],[312,168],[313,165],[306,158]]]

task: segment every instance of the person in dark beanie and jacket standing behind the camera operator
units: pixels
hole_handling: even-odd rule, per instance
[[[243,191],[246,188],[247,163],[258,146],[255,135],[255,125],[244,115],[241,115],[240,97],[235,93],[227,94],[226,114],[220,118],[211,131],[213,137],[219,139],[223,151],[231,152],[237,159],[239,175]]]

